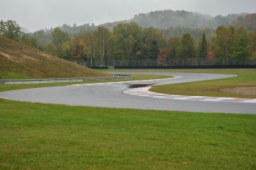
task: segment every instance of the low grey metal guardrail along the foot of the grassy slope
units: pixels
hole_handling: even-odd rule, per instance
[[[21,80],[1,79],[0,84],[41,84],[41,83],[59,83],[59,82],[119,80],[119,79],[129,79],[129,78],[134,78],[134,76],[114,75],[113,77],[98,77],[98,78],[45,78],[45,79],[21,79]]]

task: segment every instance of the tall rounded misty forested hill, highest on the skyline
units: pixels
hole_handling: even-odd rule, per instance
[[[230,14],[228,16],[207,16],[200,13],[192,13],[185,10],[160,10],[151,13],[141,13],[134,16],[131,20],[116,21],[113,23],[102,24],[108,29],[113,29],[117,24],[135,21],[142,27],[156,27],[159,29],[169,29],[170,27],[210,27],[216,28],[220,25],[229,25],[238,16],[245,16],[246,13]]]

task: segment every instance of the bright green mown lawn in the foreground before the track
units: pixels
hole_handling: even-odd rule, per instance
[[[0,90],[36,86],[53,84]],[[4,99],[0,111],[0,169],[256,169],[255,115]]]

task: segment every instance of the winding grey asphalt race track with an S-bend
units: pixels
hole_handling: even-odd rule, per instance
[[[116,72],[111,72],[116,73]],[[219,112],[256,114],[256,102],[222,102],[201,100],[178,100],[177,98],[154,98],[148,95],[129,95],[125,90],[140,86],[178,84],[230,78],[234,75],[174,73],[174,72],[122,72],[124,74],[172,75],[174,78],[153,81],[128,81],[105,84],[77,84],[71,86],[44,87],[1,92],[0,98],[35,103],[54,103],[70,106],[100,106],[129,109],[154,109],[188,112]]]

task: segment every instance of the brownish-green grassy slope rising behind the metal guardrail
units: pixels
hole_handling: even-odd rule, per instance
[[[110,76],[0,36],[0,79]]]

